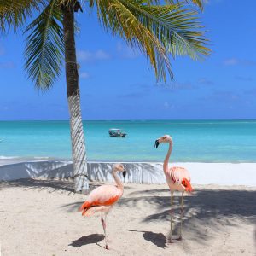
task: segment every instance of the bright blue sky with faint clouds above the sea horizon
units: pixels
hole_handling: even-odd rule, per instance
[[[201,15],[212,55],[172,61],[173,86],[113,38],[96,15],[77,15],[83,119],[256,119],[256,2],[209,0]],[[0,120],[68,119],[64,72],[41,92],[26,79],[21,32],[0,39]]]

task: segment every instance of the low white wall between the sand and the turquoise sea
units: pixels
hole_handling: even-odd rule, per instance
[[[127,170],[125,182],[166,183],[162,163],[123,163]],[[88,174],[97,181],[113,181],[113,163],[89,162]],[[219,185],[256,186],[255,163],[172,163],[170,166],[183,166],[189,170],[192,183]],[[72,177],[71,161],[26,161],[0,166],[0,180],[20,178],[69,178]]]

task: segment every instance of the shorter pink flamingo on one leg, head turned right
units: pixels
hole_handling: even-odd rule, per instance
[[[96,212],[102,212],[102,227],[105,235],[106,249],[109,250],[107,241],[107,215],[113,205],[119,201],[124,192],[124,185],[117,176],[117,172],[123,172],[125,178],[126,171],[123,165],[115,164],[112,168],[112,175],[116,185],[102,185],[90,192],[84,204],[79,208],[83,216],[90,217]],[[105,220],[103,218],[105,213]]]

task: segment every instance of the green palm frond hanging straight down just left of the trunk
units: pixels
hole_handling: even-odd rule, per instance
[[[38,18],[26,27],[25,69],[38,89],[49,89],[60,76],[63,60],[63,20],[58,1],[51,0]]]

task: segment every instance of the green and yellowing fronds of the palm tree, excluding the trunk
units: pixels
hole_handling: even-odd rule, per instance
[[[202,0],[187,1],[202,9]],[[73,0],[3,0],[0,3],[2,31],[38,17],[26,27],[26,71],[40,89],[49,89],[61,73],[63,61],[63,15],[61,7]],[[85,2],[84,2],[85,3]],[[209,54],[207,39],[192,5],[180,1],[90,0],[84,9],[97,9],[102,26],[113,35],[139,48],[157,79],[173,78],[168,54],[198,59]]]

